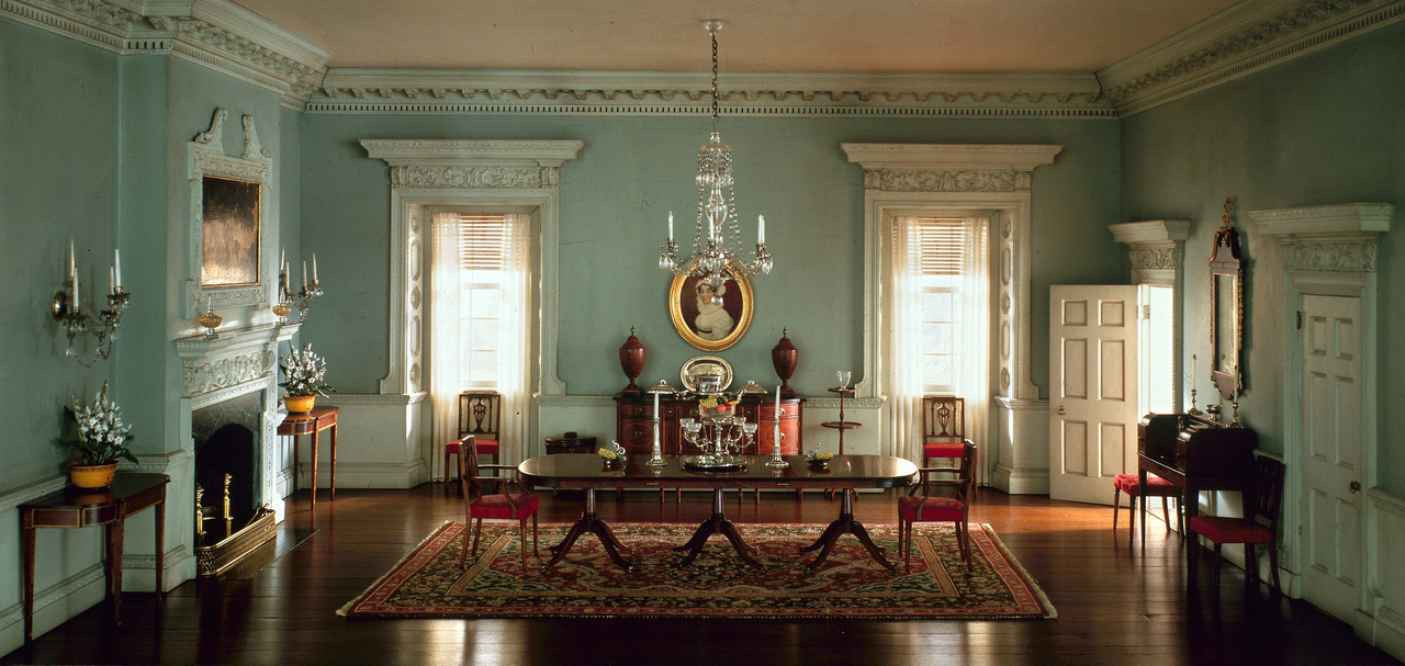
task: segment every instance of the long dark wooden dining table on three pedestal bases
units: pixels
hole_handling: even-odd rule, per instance
[[[665,455],[667,465],[652,468],[648,465],[648,455],[629,455],[622,464],[607,466],[596,454],[555,454],[540,455],[523,461],[517,471],[523,476],[523,483],[528,486],[582,489],[586,492],[586,506],[580,520],[570,527],[566,538],[551,547],[552,558],[547,566],[561,562],[570,551],[570,547],[580,535],[594,534],[604,545],[610,559],[631,569],[631,563],[621,552],[628,554],[629,547],[615,538],[610,525],[596,514],[597,488],[708,488],[712,489],[712,516],[702,521],[693,538],[674,551],[688,551],[679,566],[687,566],[702,551],[702,545],[712,534],[722,534],[731,541],[738,556],[750,565],[760,565],[752,555],[756,552],[746,545],[742,534],[726,520],[722,510],[722,493],[733,488],[835,488],[842,489],[839,517],[829,524],[825,533],[813,544],[801,548],[802,552],[819,551],[808,566],[819,566],[829,556],[835,542],[844,534],[853,534],[868,549],[868,554],[880,565],[891,572],[896,572],[896,565],[884,558],[882,548],[878,548],[868,538],[864,525],[854,520],[853,500],[854,490],[860,488],[901,488],[912,482],[917,474],[917,465],[903,458],[891,455],[836,455],[825,468],[805,464],[799,455],[787,455],[790,466],[771,469],[766,462],[769,455],[746,455],[746,465],[740,469],[704,471],[684,465],[683,455]]]

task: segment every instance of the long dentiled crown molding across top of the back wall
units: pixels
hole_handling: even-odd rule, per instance
[[[708,115],[710,96],[701,72],[329,69],[306,110]],[[1092,74],[739,73],[719,101],[722,115],[1116,118]]]

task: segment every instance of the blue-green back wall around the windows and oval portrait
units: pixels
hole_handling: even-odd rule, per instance
[[[561,170],[558,367],[572,395],[625,384],[617,348],[634,326],[648,348],[643,378],[677,381],[701,351],[669,320],[670,277],[658,270],[667,212],[691,235],[697,149],[707,118],[323,117],[305,119],[303,247],[316,250],[327,295],[303,329],[329,357],[329,382],[375,392],[386,372],[389,169],[357,143],[375,138],[580,139]],[[799,347],[791,384],[819,395],[837,368],[863,364],[863,173],[842,142],[1061,143],[1034,173],[1034,381],[1048,374],[1048,285],[1124,278],[1117,222],[1118,129],[1111,121],[726,118],[736,205],[747,229],[766,215],[776,270],[752,281],[747,334],[722,351],[738,379],[773,384],[770,348],[790,329]],[[752,233],[752,232],[749,232]],[[684,249],[686,250],[686,249]],[[1076,260],[1072,260],[1076,259]]]

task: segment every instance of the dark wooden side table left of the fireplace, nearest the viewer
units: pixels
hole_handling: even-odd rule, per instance
[[[166,485],[164,474],[118,472],[112,485],[98,489],[65,488],[20,504],[20,548],[24,568],[24,642],[34,638],[34,537],[41,527],[107,525],[107,554],[103,570],[107,596],[112,600],[112,624],[122,622],[122,535],[126,517],[146,507],[156,507],[156,593],[162,593],[166,566]]]

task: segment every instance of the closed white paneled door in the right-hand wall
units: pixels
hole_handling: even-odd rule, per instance
[[[1302,296],[1302,597],[1350,621],[1361,579],[1361,299]]]

